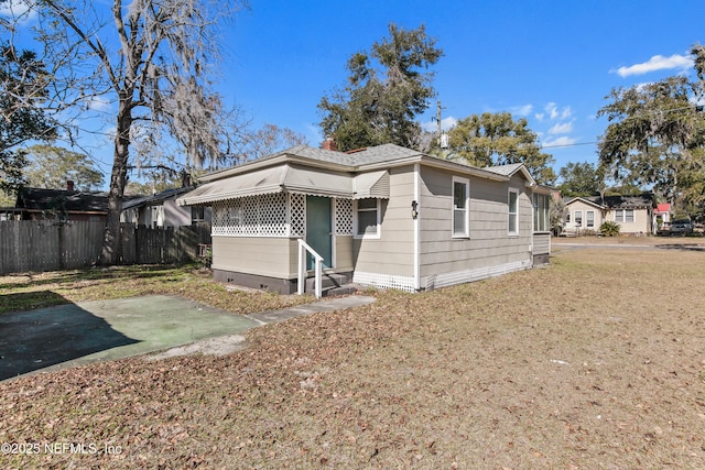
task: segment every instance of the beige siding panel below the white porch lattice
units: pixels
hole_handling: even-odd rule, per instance
[[[213,269],[259,276],[294,278],[296,239],[282,237],[213,237]]]

